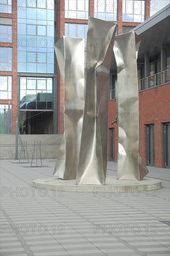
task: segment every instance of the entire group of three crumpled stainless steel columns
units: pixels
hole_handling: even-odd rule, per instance
[[[76,179],[76,184],[105,184],[108,83],[115,33],[115,23],[89,18],[86,68],[84,39],[63,36],[55,45],[59,69],[65,79],[65,132],[60,146],[64,158],[56,162],[54,175]],[[139,116],[139,39],[134,32],[116,38],[121,42],[118,47],[114,46],[114,54],[120,78],[118,113],[122,117],[118,122],[121,157],[118,159],[117,178],[141,180],[148,170],[138,154],[139,122],[135,119]]]

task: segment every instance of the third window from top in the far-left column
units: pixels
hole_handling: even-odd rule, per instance
[[[0,47],[0,71],[12,71],[12,47]]]

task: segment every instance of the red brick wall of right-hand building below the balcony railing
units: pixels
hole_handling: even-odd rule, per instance
[[[170,84],[139,93],[139,152],[146,163],[146,125],[154,124],[155,166],[163,168],[163,123],[170,122]],[[116,101],[109,101],[109,128],[115,128],[115,151],[118,150],[118,124],[111,125],[116,113]],[[118,152],[118,151],[117,151]],[[117,162],[118,154],[115,154]],[[108,154],[110,133],[108,132]],[[108,160],[110,160],[108,158]]]

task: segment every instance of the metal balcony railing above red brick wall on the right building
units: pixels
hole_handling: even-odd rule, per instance
[[[166,83],[170,83],[170,69],[167,69],[163,72],[150,75],[139,80],[138,88],[139,91],[143,91],[146,89],[154,88]],[[114,100],[116,98],[116,90],[109,91],[109,100]]]

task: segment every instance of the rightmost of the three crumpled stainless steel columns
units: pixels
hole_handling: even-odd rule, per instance
[[[116,44],[118,42],[118,45]],[[137,53],[140,39],[135,32],[115,38],[118,68],[118,170],[117,179],[142,180],[148,170],[139,155]]]

